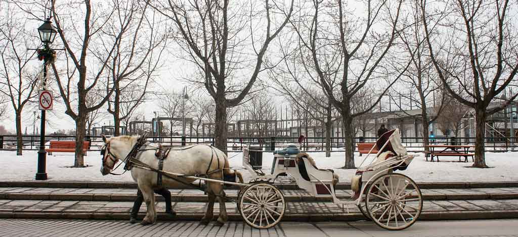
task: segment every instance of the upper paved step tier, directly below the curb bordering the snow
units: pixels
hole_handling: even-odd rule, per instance
[[[206,202],[207,195],[196,189],[169,189],[172,201]],[[330,198],[315,198],[301,189],[282,190],[288,202],[325,201]],[[434,188],[421,189],[424,200],[477,200],[518,199],[518,187],[498,188]],[[236,198],[237,189],[225,190],[227,196]],[[351,191],[337,189],[337,197],[350,199]],[[0,199],[20,200],[73,200],[73,201],[132,201],[135,188],[50,188],[50,187],[0,187]],[[157,200],[163,200],[156,195]]]

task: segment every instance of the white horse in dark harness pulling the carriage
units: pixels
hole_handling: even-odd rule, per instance
[[[103,166],[100,167],[100,172],[107,175],[113,169],[118,161],[123,161],[130,153],[132,148],[137,144],[140,136],[118,136],[106,138],[103,136],[105,145],[102,148]],[[143,162],[154,169],[158,168],[159,159],[155,156],[157,145],[149,144],[140,147],[136,159]],[[225,153],[221,150],[209,145],[192,145],[180,147],[178,149],[171,149],[169,155],[164,160],[163,170],[167,172],[182,173],[184,175],[207,175],[205,178],[209,179],[223,179],[225,175],[233,175],[234,171],[228,169],[228,161]],[[217,170],[217,171],[214,171]],[[212,171],[212,172],[211,172]],[[208,174],[207,174],[208,172]],[[153,190],[157,186],[157,172],[139,168],[135,166],[131,169],[133,180],[138,183],[138,188],[142,192],[144,201],[146,202],[147,213],[142,220],[142,225],[152,224],[156,221],[155,210],[155,195]],[[243,182],[241,173],[235,172],[240,182]],[[179,178],[181,181],[192,183],[193,179]],[[177,181],[163,176],[162,186],[170,187],[178,184]],[[215,225],[222,226],[227,221],[227,213],[225,207],[225,192],[223,185],[216,182],[207,182],[207,195],[209,198],[209,205],[202,218],[202,224],[208,224],[213,217],[214,201],[218,197],[220,203],[220,214]]]

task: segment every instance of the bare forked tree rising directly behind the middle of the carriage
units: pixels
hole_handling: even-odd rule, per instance
[[[305,67],[311,68],[319,78],[342,117],[346,146],[343,168],[354,168],[353,119],[375,107],[400,76],[396,73],[384,83],[392,72],[381,64],[397,38],[402,1],[392,4],[368,0],[364,17],[347,11],[344,4],[340,0],[331,3],[313,0],[311,5],[300,6],[299,17],[291,23],[308,55],[303,58]],[[379,25],[383,23],[386,25]],[[407,67],[402,65],[402,68]],[[334,82],[335,76],[339,85],[336,89],[330,83]],[[377,93],[379,97],[372,100],[367,109],[353,112],[351,99],[369,84],[384,85],[384,89]]]

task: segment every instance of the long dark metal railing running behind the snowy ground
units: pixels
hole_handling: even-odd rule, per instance
[[[39,136],[23,135],[23,150],[38,150]],[[359,142],[375,142],[377,137],[355,137],[355,143]],[[452,139],[456,145],[474,145],[474,137],[430,137],[428,138],[430,145],[452,144]],[[49,146],[51,140],[75,140],[75,136],[46,136],[46,147]],[[100,150],[103,146],[103,139],[100,136],[87,136],[85,140],[91,141],[89,150]],[[168,146],[185,146],[191,144],[211,144],[214,145],[214,137],[148,137],[152,143],[160,143]],[[325,137],[307,137],[300,144],[302,150],[307,151],[325,151]],[[402,137],[402,144],[408,151],[424,151],[422,137]],[[228,137],[227,150],[239,151],[244,146],[258,146],[265,151],[273,151],[287,144],[297,144],[298,137]],[[17,145],[16,136],[2,135],[0,136],[0,150],[15,150]],[[518,137],[486,137],[484,143],[486,151],[509,151],[518,147]],[[331,151],[343,151],[344,138],[331,138]],[[518,150],[518,149],[516,149]]]

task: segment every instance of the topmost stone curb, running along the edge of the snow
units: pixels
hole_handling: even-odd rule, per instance
[[[422,182],[420,188],[491,188],[491,187],[518,187],[518,181],[510,182]],[[277,185],[281,189],[298,189],[295,184]],[[137,188],[135,182],[54,182],[54,181],[3,181],[0,187],[54,187],[54,188]],[[192,188],[178,185],[169,188]],[[229,189],[238,189],[232,186]],[[351,189],[350,183],[338,183],[336,189]]]

